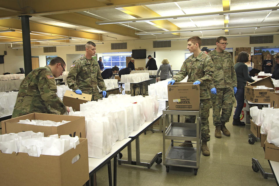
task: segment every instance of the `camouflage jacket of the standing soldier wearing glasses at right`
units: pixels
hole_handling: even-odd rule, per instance
[[[215,88],[236,87],[237,79],[235,67],[230,53],[227,51],[219,53],[214,50],[209,52],[208,55],[212,58],[214,63]]]

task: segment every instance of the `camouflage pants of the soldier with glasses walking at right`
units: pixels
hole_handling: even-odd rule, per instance
[[[233,87],[217,88],[217,95],[211,95],[213,110],[213,125],[225,124],[232,114],[232,106],[235,103]],[[220,112],[222,114],[220,117]]]

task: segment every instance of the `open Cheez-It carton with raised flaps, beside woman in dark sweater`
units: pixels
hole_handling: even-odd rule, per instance
[[[273,89],[253,89],[253,87],[264,85]],[[259,81],[249,83],[245,86],[244,98],[253,103],[270,103],[271,93],[275,91],[271,77],[262,78]]]

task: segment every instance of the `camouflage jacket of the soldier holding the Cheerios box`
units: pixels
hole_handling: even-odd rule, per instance
[[[176,82],[182,81],[187,75],[187,82],[200,81],[200,99],[210,99],[208,89],[214,88],[213,85],[214,65],[211,58],[201,52],[196,58],[194,54],[189,56],[184,62],[180,71],[172,79]]]

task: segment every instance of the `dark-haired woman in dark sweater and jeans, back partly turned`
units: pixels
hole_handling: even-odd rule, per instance
[[[232,125],[234,126],[245,126],[245,123],[240,121],[240,114],[244,105],[244,87],[247,81],[252,83],[254,80],[249,77],[248,67],[245,63],[248,61],[249,54],[247,52],[240,52],[237,57],[237,63],[235,64],[235,72],[237,78],[237,92],[235,99],[237,106],[235,109],[235,115],[233,116]]]

